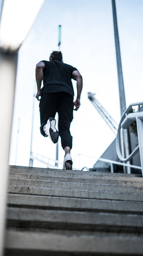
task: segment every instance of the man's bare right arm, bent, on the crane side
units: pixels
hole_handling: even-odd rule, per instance
[[[74,108],[74,110],[77,111],[81,105],[80,98],[81,98],[81,91],[82,91],[82,76],[78,70],[75,70],[72,73],[72,78],[76,80],[77,98],[76,98],[76,101],[74,102],[74,106],[76,107]]]

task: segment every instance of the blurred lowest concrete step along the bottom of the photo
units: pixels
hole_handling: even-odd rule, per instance
[[[6,256],[45,255],[143,255],[143,236],[133,234],[6,231]],[[9,249],[9,250],[8,250]],[[17,251],[16,250],[16,251]],[[25,254],[30,252],[30,254]],[[49,252],[49,254],[48,254]],[[11,254],[8,254],[11,253]],[[45,253],[45,254],[44,254]],[[14,254],[13,254],[14,255]],[[17,254],[15,254],[17,255]],[[37,254],[36,254],[37,255]]]

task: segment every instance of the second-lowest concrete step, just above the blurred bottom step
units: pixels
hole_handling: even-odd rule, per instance
[[[143,215],[8,207],[7,227],[143,234]]]

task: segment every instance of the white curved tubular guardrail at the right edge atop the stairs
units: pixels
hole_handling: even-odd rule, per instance
[[[131,108],[135,106],[138,106],[137,112],[129,113]],[[138,151],[140,151],[140,162],[141,162],[141,170],[143,175],[143,111],[140,111],[140,106],[143,106],[143,102],[130,104],[129,107],[124,111],[123,115],[121,116],[121,121],[119,123],[118,133],[116,137],[116,151],[119,159],[123,162],[129,161],[130,159],[132,159],[132,157],[135,156],[135,154]],[[132,124],[133,121],[137,122],[137,136],[138,136],[139,145],[132,151],[131,154],[129,154],[128,157],[125,158],[121,154],[121,149],[120,149],[121,128],[127,129],[129,125]]]

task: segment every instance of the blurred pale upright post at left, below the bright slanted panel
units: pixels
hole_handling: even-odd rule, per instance
[[[11,140],[11,126],[14,106],[15,82],[18,52],[0,52],[0,256],[3,255],[3,242],[8,190],[8,160]]]

